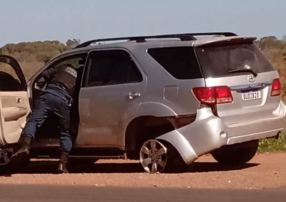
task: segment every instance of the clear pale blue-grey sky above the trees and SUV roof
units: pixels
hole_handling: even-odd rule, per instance
[[[0,0],[0,46],[183,32],[286,35],[286,0]]]

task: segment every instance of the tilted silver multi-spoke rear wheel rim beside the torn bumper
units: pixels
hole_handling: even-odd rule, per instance
[[[141,147],[140,162],[148,173],[162,172],[167,165],[167,148],[157,140],[148,140]]]

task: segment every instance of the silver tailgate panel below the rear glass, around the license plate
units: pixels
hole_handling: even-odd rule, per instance
[[[249,74],[205,79],[207,87],[228,86],[231,89],[233,102],[217,105],[218,115],[227,125],[276,116],[272,112],[279,106],[281,96],[270,94],[273,79],[279,78],[278,72],[259,73],[253,83],[248,81],[248,76]],[[259,90],[261,99],[242,101],[242,92],[252,90]]]

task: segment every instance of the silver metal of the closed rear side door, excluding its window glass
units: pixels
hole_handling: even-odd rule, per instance
[[[98,51],[108,50],[99,49]],[[124,50],[129,53],[142,75],[142,81],[82,87],[79,94],[80,123],[76,145],[122,146],[126,127],[125,119],[129,113],[136,114],[140,103],[144,102],[147,77],[140,64],[127,49],[114,48],[112,50]],[[96,50],[91,53],[96,53]],[[87,67],[85,71],[88,71]],[[132,94],[138,94],[138,96],[132,97]]]

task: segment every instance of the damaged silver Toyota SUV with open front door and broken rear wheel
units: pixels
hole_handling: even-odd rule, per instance
[[[82,73],[71,117],[75,160],[140,159],[149,173],[175,171],[206,153],[224,164],[249,161],[258,140],[279,136],[286,122],[278,72],[255,39],[187,33],[92,40],[49,61],[27,84],[17,61],[0,55],[18,76],[0,72],[2,168],[27,164],[10,157],[45,86],[41,73],[61,64]],[[40,128],[31,157],[57,157],[52,121]]]

